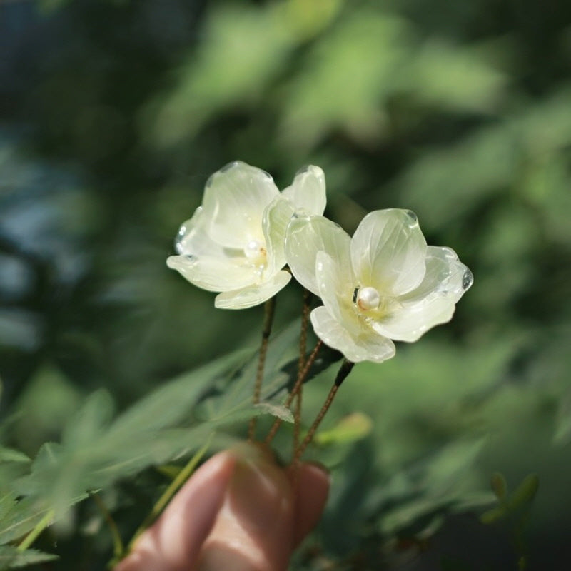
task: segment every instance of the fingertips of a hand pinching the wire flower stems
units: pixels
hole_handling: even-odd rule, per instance
[[[243,444],[213,456],[115,571],[285,571],[329,491],[317,465],[282,468]]]

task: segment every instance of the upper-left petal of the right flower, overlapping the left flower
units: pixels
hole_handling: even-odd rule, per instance
[[[318,251],[325,251],[350,272],[348,233],[324,216],[294,216],[285,235],[285,258],[293,277],[315,295],[320,295],[315,280]]]

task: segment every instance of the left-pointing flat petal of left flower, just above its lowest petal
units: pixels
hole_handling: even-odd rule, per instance
[[[256,281],[252,268],[234,263],[231,258],[169,256],[166,265],[208,291],[235,290]]]

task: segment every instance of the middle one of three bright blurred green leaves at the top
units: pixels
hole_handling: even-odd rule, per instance
[[[278,129],[285,143],[307,149],[335,128],[358,141],[380,136],[382,103],[400,89],[395,75],[410,31],[404,19],[375,8],[346,14],[311,46],[290,81]]]

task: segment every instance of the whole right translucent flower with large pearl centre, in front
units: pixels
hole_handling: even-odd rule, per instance
[[[393,340],[415,341],[445,323],[473,282],[450,248],[427,246],[415,214],[369,213],[350,238],[323,216],[294,216],[285,239],[293,276],[323,300],[311,323],[355,363],[393,357]]]

